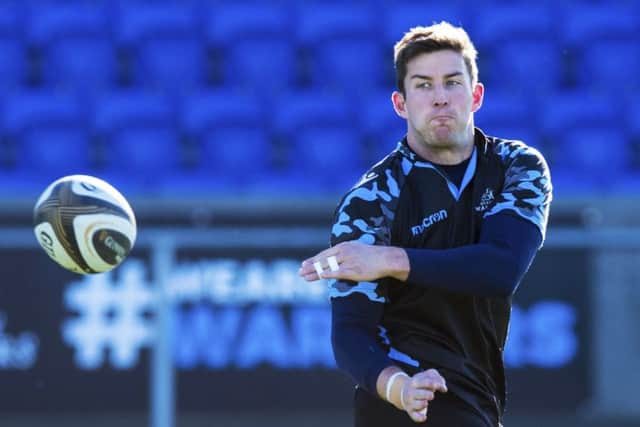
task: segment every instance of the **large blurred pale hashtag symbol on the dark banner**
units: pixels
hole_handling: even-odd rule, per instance
[[[145,272],[141,261],[129,260],[117,280],[111,272],[88,275],[66,290],[65,303],[78,315],[63,324],[62,335],[79,367],[97,369],[108,354],[112,367],[130,369],[151,345],[155,294]]]

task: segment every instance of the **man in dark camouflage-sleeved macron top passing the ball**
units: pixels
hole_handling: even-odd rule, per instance
[[[497,426],[511,296],[544,241],[549,172],[535,149],[474,127],[484,87],[463,29],[413,28],[394,61],[407,134],[300,274],[329,279],[356,426]]]

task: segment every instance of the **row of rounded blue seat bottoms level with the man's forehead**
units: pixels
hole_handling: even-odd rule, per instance
[[[244,40],[226,53],[196,41],[148,42],[118,50],[105,40],[52,43],[28,51],[0,40],[0,87],[57,87],[99,92],[116,87],[193,92],[203,87],[278,92],[288,88],[383,88],[395,81],[392,55],[370,40],[337,41],[300,51],[287,40]],[[355,55],[354,52],[358,54]],[[640,89],[639,41],[601,41],[573,55],[552,42],[511,41],[480,58],[489,86],[553,91],[590,87],[603,92]]]

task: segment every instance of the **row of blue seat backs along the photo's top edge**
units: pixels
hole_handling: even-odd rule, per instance
[[[394,43],[411,26],[447,20],[462,24],[479,46],[507,40],[637,40],[634,1],[65,1],[3,2],[0,33],[30,44],[65,37],[106,37],[119,44],[149,38],[204,38],[235,44],[244,37],[279,37],[297,44],[331,38]]]

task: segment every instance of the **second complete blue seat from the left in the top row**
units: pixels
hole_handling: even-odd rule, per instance
[[[190,3],[135,3],[119,13],[116,38],[132,57],[136,85],[166,92],[207,83],[206,46]]]

